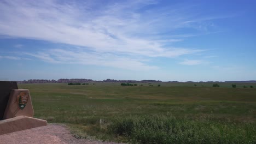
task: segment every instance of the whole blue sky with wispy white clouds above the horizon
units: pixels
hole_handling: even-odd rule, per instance
[[[0,80],[256,80],[256,1],[0,1]]]

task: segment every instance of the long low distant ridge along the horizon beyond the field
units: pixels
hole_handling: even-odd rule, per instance
[[[150,82],[166,82],[166,83],[174,83],[179,81],[159,81],[159,80],[112,80],[107,79],[103,81],[94,81],[91,79],[59,79],[59,80],[24,80],[24,81],[17,81],[18,83],[69,83],[69,82],[130,82],[130,83],[136,83],[136,82],[142,82],[142,83],[150,83]],[[193,83],[194,81],[186,81]],[[223,82],[223,81],[200,81],[200,82]],[[256,83],[256,81],[224,81],[226,83]]]

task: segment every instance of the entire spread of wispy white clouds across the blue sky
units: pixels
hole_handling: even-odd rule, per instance
[[[24,53],[52,63],[72,62],[151,69],[156,67],[146,64],[143,58],[173,58],[204,51],[169,46],[183,41],[175,37],[175,34],[171,38],[170,33],[183,27],[197,29],[192,23],[202,23],[209,19],[194,20],[188,9],[174,6],[142,10],[153,4],[157,2],[120,1],[101,5],[96,9],[94,3],[90,2],[1,1],[0,34],[82,47],[79,52],[60,47]],[[210,25],[205,25],[204,29],[207,27]],[[162,34],[166,32],[168,36]],[[72,59],[78,61],[74,62]],[[200,62],[184,61],[181,64],[185,63],[191,65]]]

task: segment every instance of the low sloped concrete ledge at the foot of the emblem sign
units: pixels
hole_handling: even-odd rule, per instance
[[[43,119],[18,116],[0,121],[0,135],[47,125]]]

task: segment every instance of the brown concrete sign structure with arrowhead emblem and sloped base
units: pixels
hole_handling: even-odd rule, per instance
[[[1,84],[4,83],[5,88],[1,88]],[[16,82],[0,82],[0,91],[2,91],[0,94],[4,94],[0,95],[0,100],[9,99],[1,101],[5,107],[0,107],[0,112],[4,111],[4,115],[0,117],[4,119],[0,121],[0,135],[47,125],[47,121],[33,118],[34,110],[28,89],[17,87],[17,89],[10,90],[10,88],[15,88],[15,84],[17,87]]]

